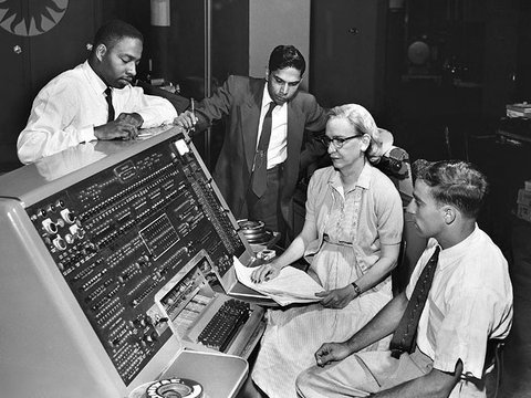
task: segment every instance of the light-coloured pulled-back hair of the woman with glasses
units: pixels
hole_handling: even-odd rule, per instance
[[[383,139],[381,129],[376,126],[371,113],[358,104],[335,106],[330,111],[329,121],[342,118],[348,122],[354,134],[366,134],[371,137],[365,156],[373,164],[377,164],[383,155]]]

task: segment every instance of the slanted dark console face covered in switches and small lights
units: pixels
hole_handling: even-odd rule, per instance
[[[200,250],[223,276],[246,245],[177,135],[27,208],[125,385],[168,341],[155,294]]]

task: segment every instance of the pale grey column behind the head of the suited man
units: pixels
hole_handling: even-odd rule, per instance
[[[266,74],[269,54],[279,44],[293,44],[310,61],[310,6],[308,0],[249,0],[249,74]],[[302,88],[308,90],[306,69]]]

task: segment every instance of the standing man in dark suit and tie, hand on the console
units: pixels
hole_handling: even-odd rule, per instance
[[[304,71],[300,51],[279,45],[270,55],[266,78],[229,76],[195,113],[176,119],[177,125],[200,132],[212,121],[228,118],[214,172],[223,198],[236,218],[261,220],[289,237],[299,171],[326,150],[313,142],[303,151],[304,130],[316,136],[327,119],[315,97],[299,91]],[[267,171],[261,170],[264,165]]]

